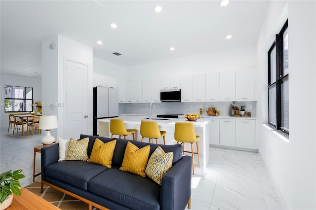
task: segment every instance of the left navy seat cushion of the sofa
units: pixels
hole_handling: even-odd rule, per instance
[[[87,161],[60,161],[46,166],[45,174],[48,177],[86,190],[88,180],[106,170],[108,168],[105,166]]]

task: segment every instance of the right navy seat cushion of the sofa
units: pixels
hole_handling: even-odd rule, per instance
[[[111,180],[111,181],[104,181]],[[160,185],[114,167],[88,181],[88,191],[134,210],[159,210]]]

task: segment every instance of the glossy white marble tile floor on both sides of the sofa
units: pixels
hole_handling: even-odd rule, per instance
[[[23,169],[26,178],[21,184],[29,185],[33,179],[33,147],[41,144],[40,139],[39,134],[22,137],[21,132],[13,136],[12,131],[8,134],[7,130],[0,130],[0,172]],[[209,154],[205,176],[199,175],[195,158],[192,210],[283,209],[258,153],[210,147]],[[36,172],[39,171],[37,153]],[[40,181],[40,176],[36,181]]]

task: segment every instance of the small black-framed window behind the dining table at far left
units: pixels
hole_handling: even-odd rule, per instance
[[[33,111],[33,88],[4,85],[4,112]]]

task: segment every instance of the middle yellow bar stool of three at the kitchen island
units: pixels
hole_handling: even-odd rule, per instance
[[[140,135],[142,136],[142,141],[144,138],[149,138],[149,143],[151,139],[157,139],[158,138],[163,138],[163,144],[166,144],[164,136],[166,135],[167,132],[165,131],[159,131],[159,127],[157,122],[155,121],[147,121],[147,120],[142,120],[140,123]]]

